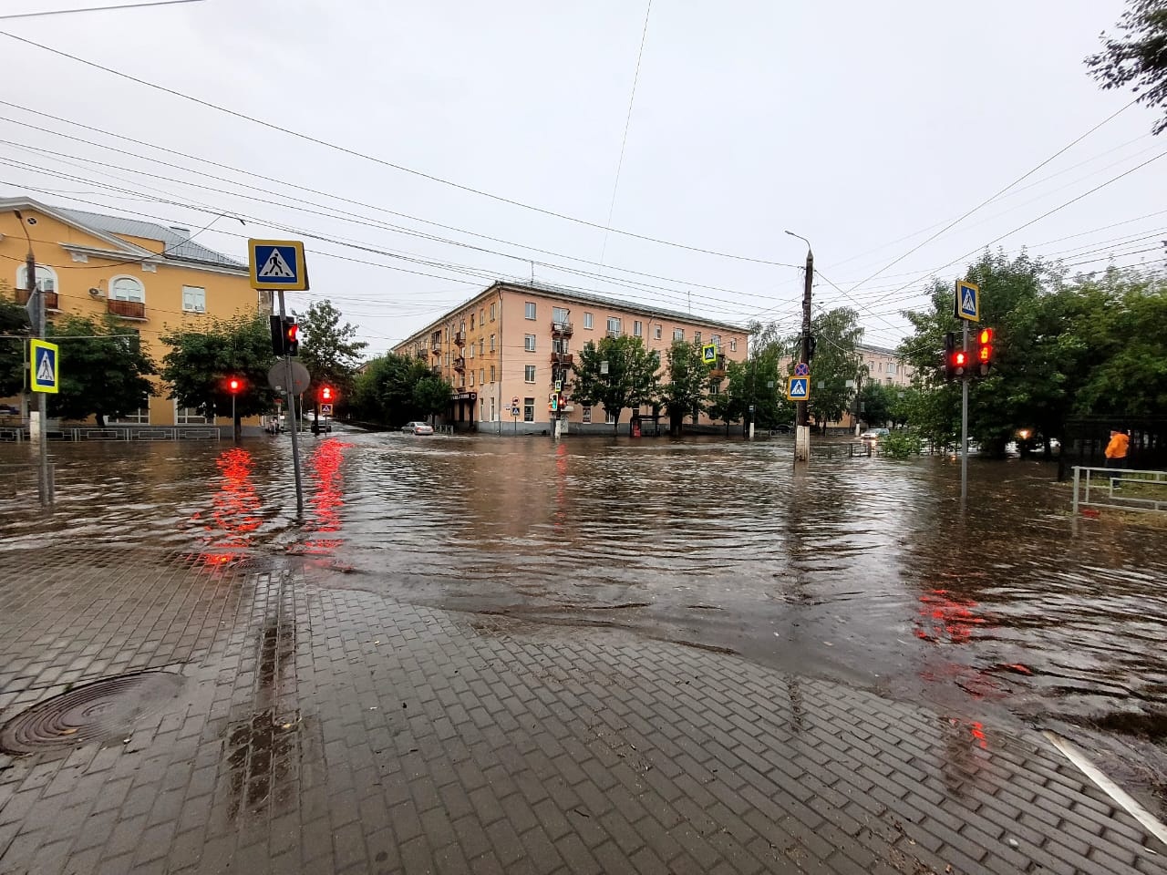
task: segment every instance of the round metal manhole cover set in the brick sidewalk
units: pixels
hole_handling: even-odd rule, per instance
[[[125,734],[135,720],[176,695],[183,680],[169,672],[138,672],[75,687],[5,723],[0,750],[35,754]]]

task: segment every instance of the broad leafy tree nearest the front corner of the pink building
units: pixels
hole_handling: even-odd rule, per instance
[[[620,428],[626,407],[640,407],[655,400],[658,352],[644,348],[640,337],[622,335],[588,341],[574,366],[572,397],[584,405],[599,404],[613,418],[613,432]]]

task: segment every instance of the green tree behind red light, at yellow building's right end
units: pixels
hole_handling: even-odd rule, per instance
[[[169,329],[161,336],[170,351],[162,357],[162,379],[170,398],[204,415],[230,410],[226,380],[238,377],[243,388],[235,398],[235,438],[243,433],[244,416],[271,410],[274,392],[267,371],[275,364],[271,326],[265,314],[216,320],[207,330]]]

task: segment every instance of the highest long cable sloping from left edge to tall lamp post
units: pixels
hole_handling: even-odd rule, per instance
[[[166,88],[165,85],[159,85],[159,84],[153,83],[153,82],[148,82],[147,79],[142,79],[142,78],[140,78],[138,76],[132,76],[131,74],[121,72],[120,70],[114,70],[112,66],[105,66],[104,64],[98,64],[95,61],[88,61],[86,58],[78,57],[77,55],[71,55],[68,51],[62,51],[61,49],[54,49],[53,47],[44,46],[43,43],[39,43],[35,40],[29,40],[29,38],[23,37],[23,36],[16,36],[15,34],[8,33],[7,30],[0,30],[0,36],[7,36],[9,40],[15,40],[16,42],[25,43],[26,46],[32,46],[34,48],[41,49],[42,51],[48,51],[48,52],[50,52],[53,55],[56,55],[58,57],[63,57],[63,58],[68,58],[70,61],[75,61],[75,62],[77,62],[79,64],[84,64],[86,66],[91,66],[95,70],[102,70],[103,72],[107,72],[107,74],[111,74],[112,76],[118,76],[118,77],[120,77],[123,79],[126,79],[127,82],[133,82],[133,83],[137,83],[139,85],[144,85],[146,88],[154,89],[155,91],[161,91],[162,93],[170,94],[173,97],[177,97],[177,98],[181,98],[183,100],[189,100],[190,103],[197,104],[200,106],[204,106],[204,107],[207,107],[209,110],[214,110],[216,112],[222,112],[222,113],[225,113],[225,114],[231,116],[233,118],[242,119],[244,121],[250,121],[253,125],[259,125],[259,126],[266,127],[266,128],[268,128],[271,131],[278,131],[279,133],[287,134],[288,136],[294,136],[294,138],[296,138],[299,140],[303,140],[305,142],[310,142],[310,144],[314,144],[316,146],[323,146],[324,148],[334,149],[334,150],[343,153],[345,155],[351,155],[352,158],[358,158],[358,159],[361,159],[363,161],[371,161],[372,163],[380,164],[382,167],[387,167],[387,168],[391,168],[393,170],[399,170],[400,173],[407,173],[407,174],[410,174],[412,176],[417,176],[419,178],[428,180],[431,182],[436,182],[436,183],[440,183],[442,186],[448,186],[448,187],[457,189],[460,191],[466,191],[466,192],[471,194],[471,195],[477,195],[480,197],[485,197],[485,198],[489,198],[491,201],[497,201],[498,203],[505,203],[505,204],[509,204],[511,206],[518,206],[520,209],[531,210],[532,212],[538,212],[538,214],[544,215],[544,216],[551,216],[552,218],[562,219],[564,222],[572,222],[574,224],[582,225],[585,228],[592,228],[592,229],[595,229],[598,231],[606,230],[605,226],[602,224],[598,223],[598,222],[589,222],[588,219],[582,219],[582,218],[579,218],[576,216],[568,216],[566,214],[557,212],[555,210],[550,210],[550,209],[546,209],[544,206],[536,206],[533,204],[523,203],[522,201],[516,201],[513,198],[505,197],[503,195],[496,195],[496,194],[492,194],[490,191],[484,191],[482,189],[477,189],[477,188],[474,188],[471,186],[463,186],[460,182],[454,182],[452,180],[446,180],[446,178],[442,178],[441,176],[435,176],[435,175],[426,173],[424,170],[415,170],[412,167],[405,167],[404,164],[393,163],[392,161],[386,161],[385,159],[377,158],[375,155],[370,155],[370,154],[368,154],[365,152],[359,152],[358,149],[349,148],[347,146],[341,146],[340,144],[329,142],[328,140],[322,140],[319,136],[313,136],[312,134],[306,134],[306,133],[303,133],[301,131],[293,131],[292,128],[282,127],[281,125],[277,125],[277,124],[273,124],[271,121],[266,121],[264,119],[256,118],[254,116],[249,116],[249,114],[246,114],[244,112],[238,112],[237,110],[230,110],[230,108],[228,108],[225,106],[219,106],[217,104],[210,103],[209,100],[203,100],[202,98],[194,97],[194,96],[188,94],[186,92],[177,91],[175,89],[169,89],[169,88]],[[665,240],[665,239],[662,239],[659,237],[650,237],[648,235],[640,235],[640,233],[635,233],[633,231],[623,231],[623,230],[615,229],[615,228],[608,229],[608,230],[612,233],[617,233],[617,235],[620,235],[622,237],[630,237],[633,239],[644,240],[647,243],[655,243],[655,244],[658,244],[661,246],[671,246],[673,249],[685,250],[685,251],[689,251],[689,252],[699,252],[699,253],[706,254],[706,256],[717,256],[718,258],[728,258],[728,259],[733,259],[733,260],[736,260],[736,261],[749,261],[752,264],[770,265],[771,267],[796,267],[796,265],[789,265],[789,264],[785,264],[785,262],[782,262],[782,261],[770,261],[770,260],[763,259],[763,258],[753,258],[753,257],[749,257],[749,256],[738,256],[738,254],[734,254],[734,253],[731,253],[731,252],[719,252],[717,250],[707,250],[707,249],[703,249],[700,246],[691,246],[691,245],[684,244],[684,243],[676,243],[675,240]]]

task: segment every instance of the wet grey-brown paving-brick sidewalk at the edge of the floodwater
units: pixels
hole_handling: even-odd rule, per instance
[[[177,692],[0,755],[0,873],[1167,873],[1020,727],[312,559],[23,559],[0,722],[130,672]]]

